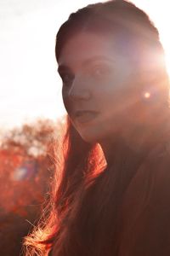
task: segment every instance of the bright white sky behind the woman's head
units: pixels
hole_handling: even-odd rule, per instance
[[[54,57],[55,35],[92,0],[0,0],[0,130],[65,114]],[[170,70],[167,0],[133,0],[158,27]]]

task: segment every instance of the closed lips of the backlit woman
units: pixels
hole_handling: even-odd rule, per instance
[[[92,121],[98,116],[98,112],[90,110],[79,110],[75,113],[75,117],[80,123],[87,123]]]

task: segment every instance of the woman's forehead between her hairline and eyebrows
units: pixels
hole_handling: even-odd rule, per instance
[[[95,56],[115,59],[114,38],[104,37],[92,32],[79,33],[65,43],[58,62],[59,65],[71,67]]]

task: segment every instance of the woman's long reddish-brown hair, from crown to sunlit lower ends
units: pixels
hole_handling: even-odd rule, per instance
[[[113,35],[114,47],[129,58],[134,67],[140,67],[141,62],[146,61],[143,54],[150,52],[145,63],[148,67],[145,77],[150,78],[144,82],[154,85],[154,99],[147,108],[154,114],[167,113],[169,83],[164,52],[159,33],[149,17],[133,3],[123,0],[79,9],[59,29],[56,59],[59,60],[65,42],[86,31]],[[140,79],[141,76],[135,78],[135,85],[142,87]],[[167,121],[167,118],[161,120]],[[26,255],[45,256],[49,250],[54,256],[113,255],[119,245],[122,195],[147,153],[135,152],[119,142],[111,152],[112,166],[106,167],[99,145],[85,143],[69,118],[61,144],[51,200],[39,224],[25,239]]]

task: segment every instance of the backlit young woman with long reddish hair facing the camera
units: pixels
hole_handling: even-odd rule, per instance
[[[65,161],[26,255],[170,255],[169,82],[156,27],[133,3],[96,3],[60,27],[55,52]]]

